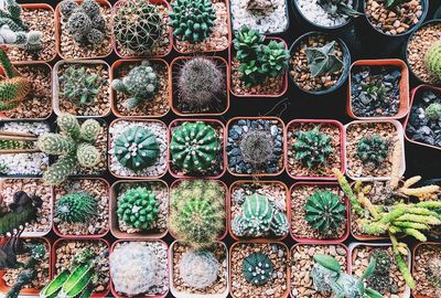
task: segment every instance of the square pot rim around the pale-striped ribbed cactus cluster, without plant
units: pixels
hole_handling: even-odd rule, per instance
[[[288,187],[287,184],[284,184],[282,181],[256,181],[256,180],[239,180],[239,181],[235,181],[232,183],[232,185],[229,185],[229,198],[228,198],[228,232],[232,235],[232,237],[235,241],[238,242],[244,242],[244,243],[259,243],[259,242],[265,242],[265,241],[282,241],[284,240],[289,233],[287,233],[287,235],[281,236],[281,237],[256,237],[256,238],[249,238],[249,237],[239,237],[236,236],[233,231],[232,231],[232,222],[233,222],[233,212],[232,212],[232,206],[233,206],[233,192],[235,191],[235,189],[239,189],[243,184],[279,184],[284,189],[284,196],[286,196],[286,204],[287,204],[287,217],[288,217],[288,223],[291,222],[291,202],[289,200],[289,193],[288,193]]]

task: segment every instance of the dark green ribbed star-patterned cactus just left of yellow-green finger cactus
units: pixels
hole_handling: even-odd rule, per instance
[[[305,221],[321,235],[335,234],[345,221],[346,206],[330,191],[315,191],[304,205]]]

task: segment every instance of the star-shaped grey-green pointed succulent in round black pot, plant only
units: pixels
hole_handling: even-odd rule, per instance
[[[337,73],[343,68],[343,62],[335,55],[335,41],[320,47],[306,47],[304,53],[311,77]]]

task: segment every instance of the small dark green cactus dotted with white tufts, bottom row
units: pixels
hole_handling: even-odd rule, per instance
[[[244,259],[241,274],[245,279],[254,285],[261,286],[272,276],[273,265],[271,259],[262,253],[252,253]]]

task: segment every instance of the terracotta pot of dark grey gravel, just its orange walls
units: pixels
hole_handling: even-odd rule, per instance
[[[354,67],[357,66],[395,66],[400,70],[401,79],[399,83],[399,109],[397,115],[395,116],[378,116],[378,117],[362,117],[356,116],[352,109],[352,79],[351,73]],[[349,76],[348,76],[348,84],[347,84],[347,102],[346,102],[346,111],[351,118],[358,119],[358,120],[379,120],[379,119],[400,119],[405,117],[409,113],[409,70],[406,63],[398,58],[387,58],[387,60],[358,60],[355,61],[349,68]]]

